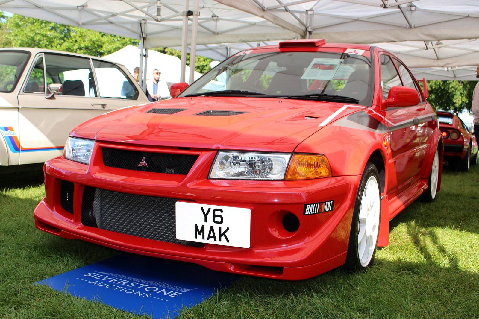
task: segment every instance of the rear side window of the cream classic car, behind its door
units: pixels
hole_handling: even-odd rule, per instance
[[[137,100],[138,90],[117,65],[93,60],[101,97]]]

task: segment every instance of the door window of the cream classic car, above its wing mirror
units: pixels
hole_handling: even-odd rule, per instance
[[[56,94],[95,97],[96,87],[91,72],[90,59],[58,54],[45,54],[46,73],[52,79],[48,85],[58,86]]]

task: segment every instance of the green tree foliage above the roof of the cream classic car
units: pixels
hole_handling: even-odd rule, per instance
[[[123,36],[18,14],[9,18],[1,12],[0,22],[1,47],[38,47],[103,57],[129,44],[138,45],[138,40]]]

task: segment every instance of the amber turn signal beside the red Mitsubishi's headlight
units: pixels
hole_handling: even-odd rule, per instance
[[[331,167],[324,155],[294,154],[290,161],[285,180],[306,180],[330,177]]]

